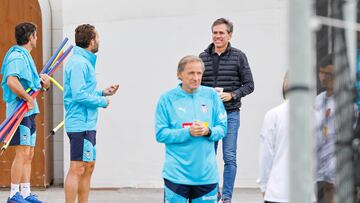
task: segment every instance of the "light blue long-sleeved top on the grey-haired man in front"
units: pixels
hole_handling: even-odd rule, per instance
[[[181,84],[161,96],[155,116],[156,140],[166,146],[163,177],[186,185],[219,181],[214,142],[226,135],[227,115],[214,89],[200,86],[194,93]],[[210,137],[193,137],[189,124],[207,122]]]

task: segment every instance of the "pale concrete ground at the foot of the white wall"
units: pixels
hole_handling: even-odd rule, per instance
[[[64,203],[64,189],[50,187],[46,191],[33,191],[47,203]],[[5,202],[9,191],[0,191],[0,202]],[[161,203],[162,189],[122,188],[116,190],[92,190],[89,203]],[[235,189],[233,203],[259,203],[262,198],[258,189]]]

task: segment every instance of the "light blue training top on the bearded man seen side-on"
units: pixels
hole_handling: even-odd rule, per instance
[[[96,130],[98,108],[107,105],[102,91],[96,90],[95,64],[95,54],[74,47],[64,73],[66,132]]]

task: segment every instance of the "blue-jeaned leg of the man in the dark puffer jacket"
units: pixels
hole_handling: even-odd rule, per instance
[[[240,127],[240,112],[228,112],[227,116],[228,132],[225,138],[222,140],[224,159],[224,182],[222,189],[222,199],[231,200],[237,170],[236,151],[238,130]]]

